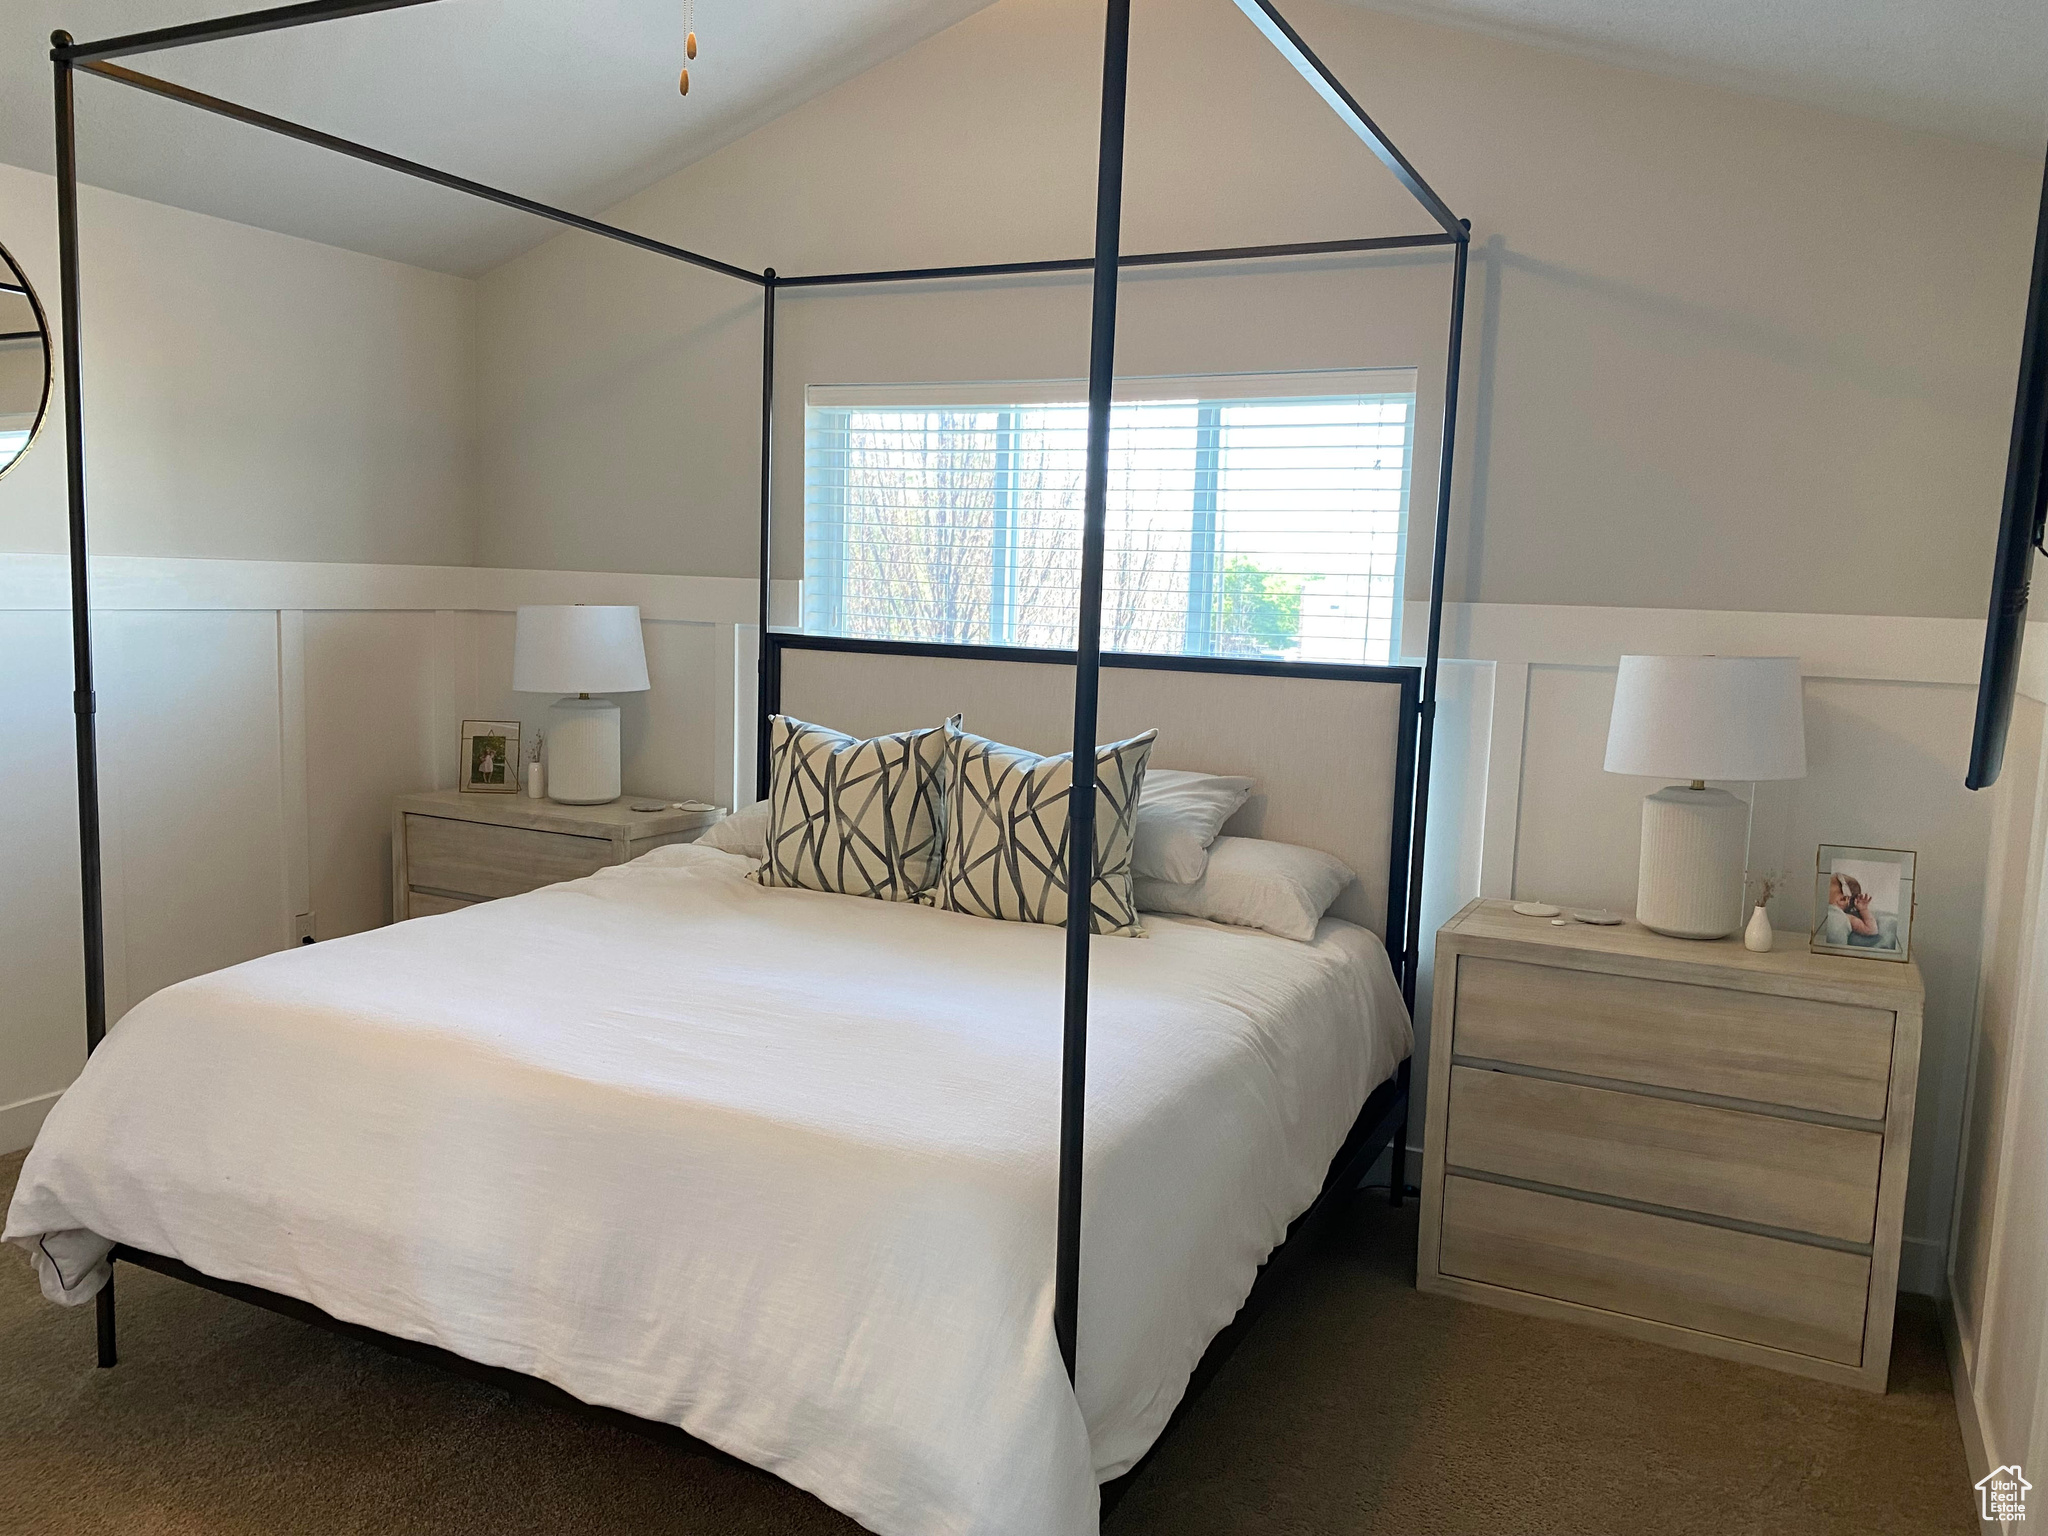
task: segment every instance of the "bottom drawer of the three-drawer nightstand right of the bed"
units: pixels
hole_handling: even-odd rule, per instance
[[[1855,1366],[1870,1260],[1675,1217],[1444,1180],[1448,1276]]]

